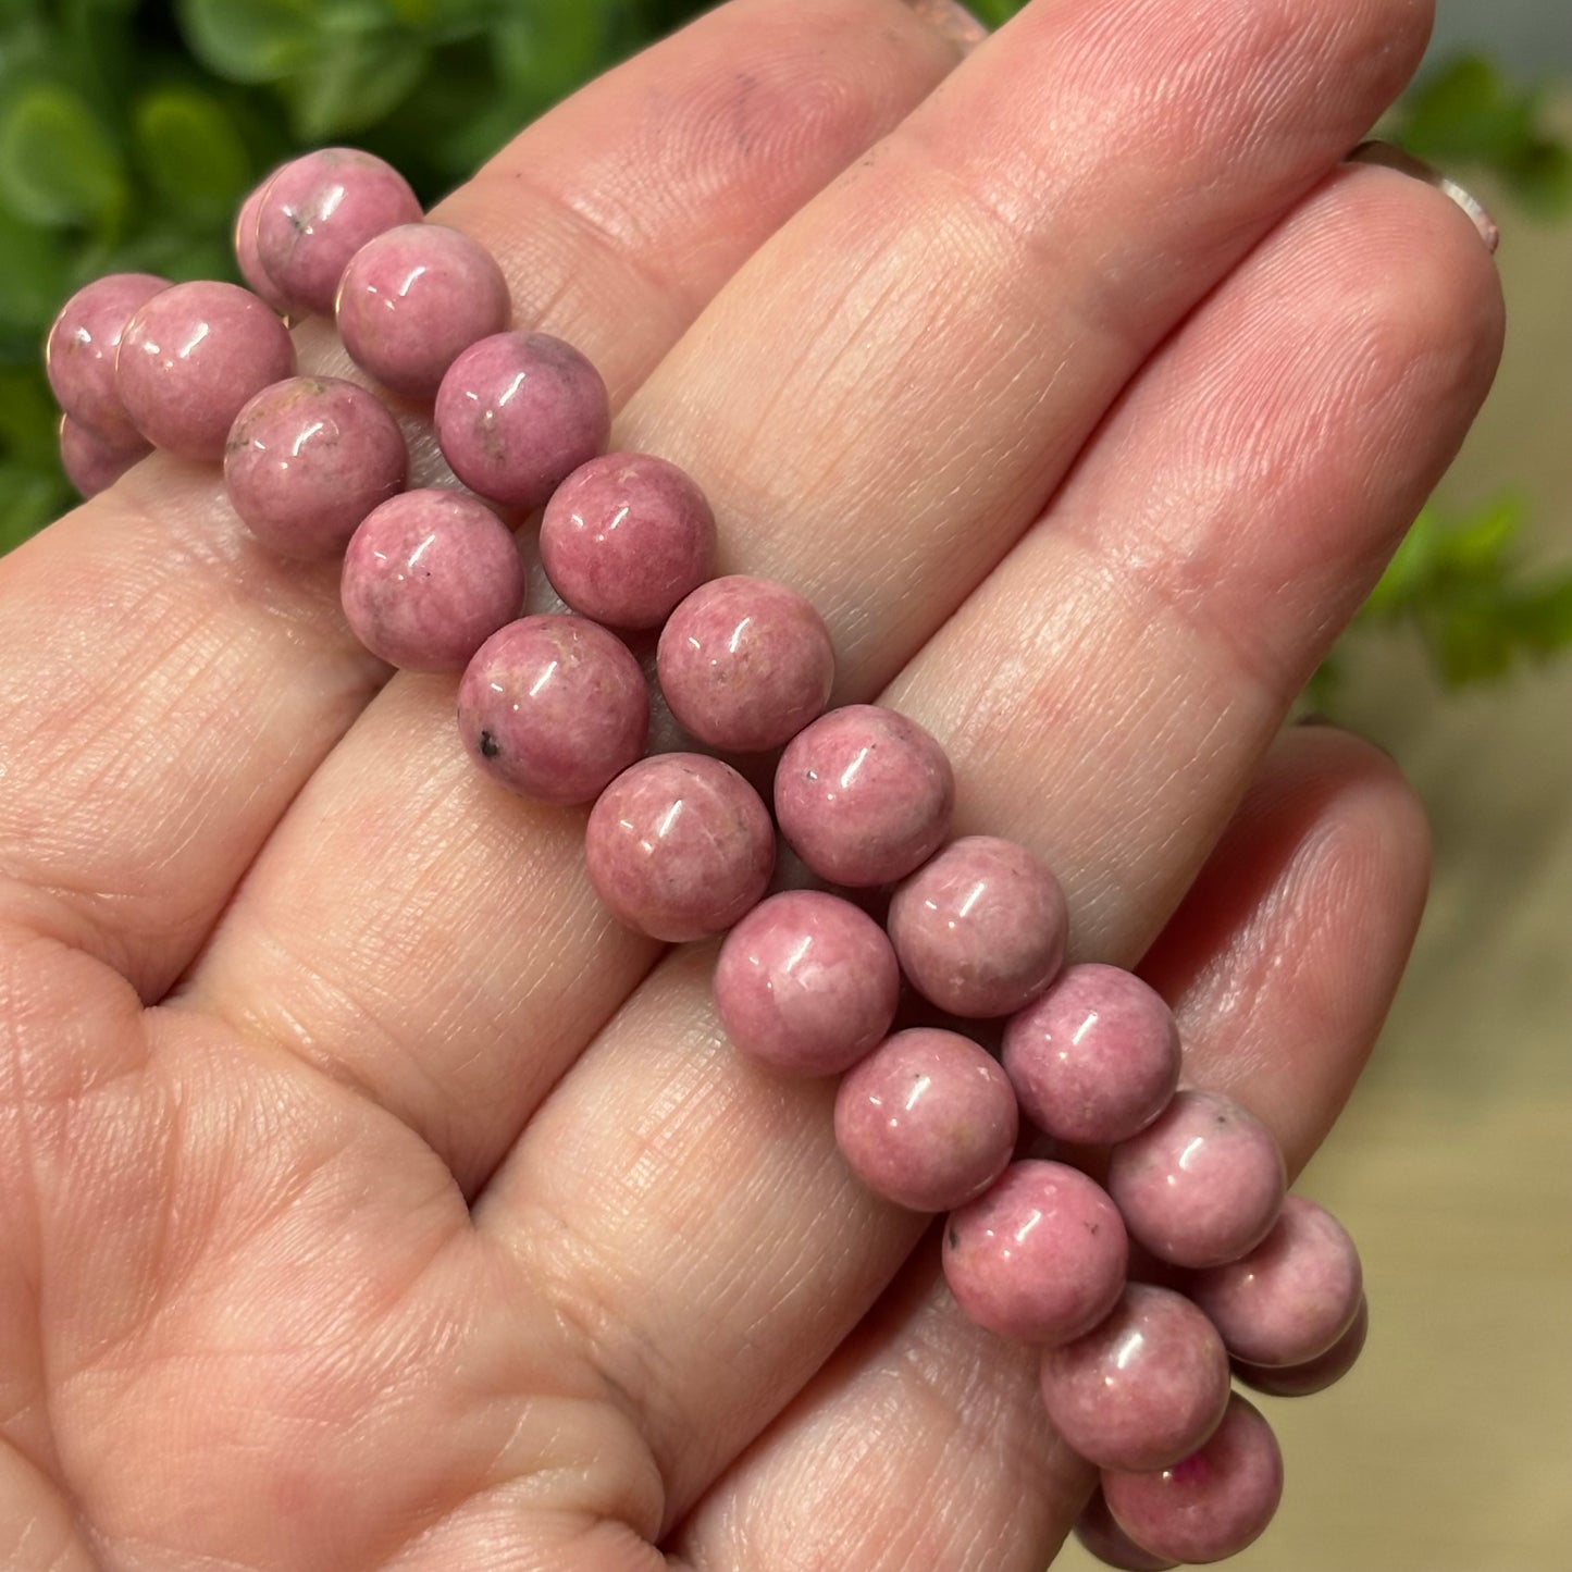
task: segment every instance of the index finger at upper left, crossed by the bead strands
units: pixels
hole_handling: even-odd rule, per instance
[[[737,0],[569,99],[437,215],[621,398],[742,259],[954,63],[898,0]],[[313,330],[321,363],[322,332]],[[311,358],[307,354],[305,358]],[[429,439],[418,445],[431,462]],[[140,465],[0,563],[0,874],[159,997],[377,685],[336,567]]]

